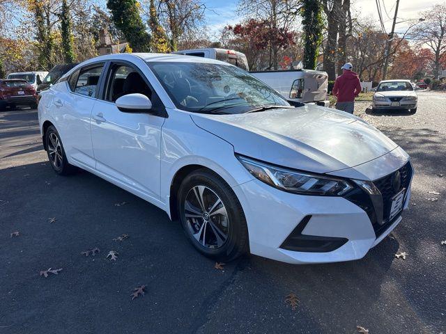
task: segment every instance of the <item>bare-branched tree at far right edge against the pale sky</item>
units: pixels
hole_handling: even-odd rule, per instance
[[[421,15],[424,22],[418,24],[412,35],[420,45],[427,45],[433,51],[433,76],[438,79],[441,59],[446,56],[446,6],[433,6]]]

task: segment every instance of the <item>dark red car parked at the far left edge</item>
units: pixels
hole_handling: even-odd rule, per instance
[[[0,110],[7,107],[30,106],[37,108],[36,89],[23,79],[0,79]]]

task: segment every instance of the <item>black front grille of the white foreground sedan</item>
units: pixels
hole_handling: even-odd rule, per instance
[[[397,195],[397,193],[399,193],[401,189],[408,189],[410,185],[410,179],[413,174],[413,169],[412,166],[410,166],[410,162],[399,168],[398,172],[401,175],[401,186],[399,187],[399,189],[394,189],[394,186],[392,186],[392,180],[397,171],[374,181],[375,186],[379,189],[381,195],[383,196],[383,224],[380,225],[378,224],[378,222],[374,224],[376,237],[383,233],[388,226],[392,225],[394,219],[396,219],[398,216],[395,216],[392,221],[389,221],[390,207],[392,206],[392,197]]]

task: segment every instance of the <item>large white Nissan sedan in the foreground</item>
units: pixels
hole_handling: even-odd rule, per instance
[[[396,143],[221,61],[93,58],[42,95],[38,116],[56,173],[77,166],[144,198],[217,261],[360,259],[408,207],[413,169]]]

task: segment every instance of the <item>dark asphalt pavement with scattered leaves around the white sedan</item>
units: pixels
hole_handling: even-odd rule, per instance
[[[1,112],[0,333],[446,333],[446,94],[419,95],[415,114],[356,104],[413,159],[410,209],[390,237],[354,262],[249,255],[224,270],[148,202],[90,173],[56,175],[36,110]],[[49,268],[62,270],[40,276]]]

